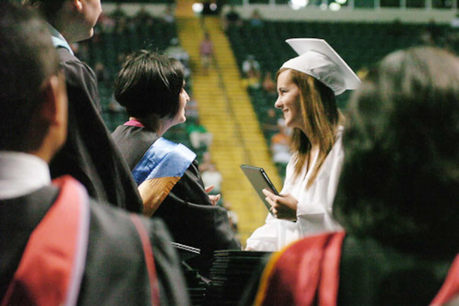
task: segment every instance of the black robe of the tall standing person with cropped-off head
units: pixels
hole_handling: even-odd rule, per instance
[[[94,72],[67,49],[57,50],[67,79],[68,135],[50,163],[51,176],[71,175],[91,197],[141,212],[137,186],[101,117]]]

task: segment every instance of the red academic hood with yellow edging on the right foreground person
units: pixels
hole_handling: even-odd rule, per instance
[[[274,253],[263,271],[254,305],[337,304],[344,232],[303,238]],[[431,305],[459,298],[459,255]]]

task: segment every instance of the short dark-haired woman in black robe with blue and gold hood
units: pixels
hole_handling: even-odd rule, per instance
[[[206,193],[196,154],[161,136],[185,122],[184,67],[151,51],[128,57],[114,85],[129,121],[113,136],[144,199],[144,215],[161,217],[175,242],[201,249],[207,261],[217,249],[240,249],[226,211]]]

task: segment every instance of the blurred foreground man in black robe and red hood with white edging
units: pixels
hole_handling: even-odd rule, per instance
[[[0,40],[2,305],[188,305],[162,221],[101,205],[71,176],[51,182],[67,93],[44,22],[1,2]]]

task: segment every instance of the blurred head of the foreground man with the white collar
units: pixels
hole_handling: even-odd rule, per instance
[[[67,132],[67,94],[55,48],[32,10],[0,4],[0,150],[49,162]]]

